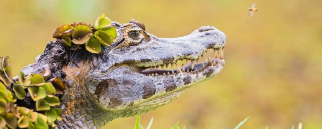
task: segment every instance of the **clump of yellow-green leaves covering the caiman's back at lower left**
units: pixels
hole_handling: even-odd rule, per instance
[[[24,76],[20,72],[12,94],[7,87],[12,84],[12,73],[8,57],[0,57],[0,128],[52,128],[55,120],[61,120],[61,109],[52,108],[60,104],[55,87],[40,74]],[[25,99],[29,92],[36,102],[36,111],[17,106],[17,99]]]

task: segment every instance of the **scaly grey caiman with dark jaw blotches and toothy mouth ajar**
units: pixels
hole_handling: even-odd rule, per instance
[[[56,121],[57,128],[102,128],[116,118],[152,111],[224,67],[226,36],[213,26],[183,37],[158,38],[139,24],[112,25],[116,41],[100,54],[67,51],[51,41],[35,63],[22,69],[32,74],[49,66],[50,78],[64,79],[63,120]],[[211,57],[201,61],[206,52]]]

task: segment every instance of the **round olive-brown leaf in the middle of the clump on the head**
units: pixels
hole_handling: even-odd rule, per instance
[[[85,44],[92,34],[92,29],[90,27],[79,25],[74,28],[72,33],[72,42],[77,45]]]

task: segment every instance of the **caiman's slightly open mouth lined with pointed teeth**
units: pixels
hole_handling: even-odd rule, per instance
[[[205,55],[205,56],[204,56]],[[210,56],[207,56],[210,55]],[[147,76],[164,76],[173,74],[201,72],[209,66],[224,64],[224,47],[208,48],[203,51],[197,59],[180,58],[171,63],[161,64],[152,67],[138,67],[129,65],[133,70]]]

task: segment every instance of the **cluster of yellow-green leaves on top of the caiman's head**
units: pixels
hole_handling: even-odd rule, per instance
[[[116,29],[112,21],[102,14],[94,26],[79,22],[71,25],[62,25],[56,29],[54,38],[67,50],[73,45],[85,45],[85,49],[91,53],[98,54],[102,46],[110,46],[117,37]]]

